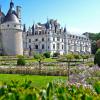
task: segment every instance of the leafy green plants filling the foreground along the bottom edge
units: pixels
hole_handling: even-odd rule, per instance
[[[2,83],[0,100],[99,100],[100,95],[81,84],[65,85],[62,82],[49,82],[44,89],[33,87],[31,81]]]

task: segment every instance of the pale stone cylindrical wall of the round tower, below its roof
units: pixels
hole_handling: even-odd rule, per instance
[[[1,25],[2,45],[5,55],[23,55],[21,25],[7,22]]]

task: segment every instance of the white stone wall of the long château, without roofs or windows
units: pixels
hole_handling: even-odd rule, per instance
[[[57,40],[58,37],[59,40]],[[42,38],[44,38],[44,41],[42,41]],[[31,39],[31,43],[29,43],[29,39]],[[36,39],[38,39],[38,41],[35,41]],[[27,48],[29,49],[29,46],[31,46],[33,52],[38,52],[38,53],[44,53],[47,51],[51,52],[51,54],[59,52],[61,55],[68,54],[71,52],[82,53],[82,54],[91,53],[91,43],[86,36],[78,36],[72,34],[69,35],[68,33],[59,34],[50,32],[49,34],[41,34],[41,35],[29,34],[27,36],[26,41],[27,41]],[[42,44],[44,44],[45,49],[42,49]],[[59,44],[59,49],[57,48],[57,44]],[[38,45],[39,48],[35,49],[35,45]],[[55,48],[53,48],[53,45],[55,45]]]

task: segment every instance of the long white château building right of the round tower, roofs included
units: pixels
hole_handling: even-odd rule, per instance
[[[24,50],[29,53],[58,52],[61,55],[68,53],[91,53],[91,41],[88,33],[83,35],[71,34],[66,27],[62,28],[57,20],[47,20],[46,23],[33,24],[28,31],[23,28]]]

